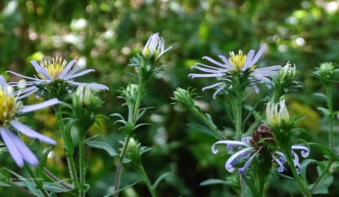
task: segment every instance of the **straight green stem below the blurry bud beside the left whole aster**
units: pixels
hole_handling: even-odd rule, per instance
[[[85,196],[85,136],[79,136],[79,175],[81,187],[79,188],[79,197]]]

